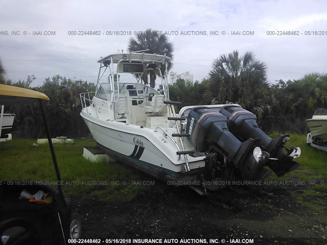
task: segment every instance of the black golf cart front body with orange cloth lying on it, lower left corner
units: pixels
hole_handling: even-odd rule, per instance
[[[63,237],[60,223],[67,223],[66,210],[70,209],[70,202],[65,209],[57,201],[60,200],[58,190],[51,186],[19,185],[12,181],[3,184],[0,188],[0,244],[58,244]],[[31,202],[20,197],[22,191],[35,194],[40,190],[51,197],[50,203]]]

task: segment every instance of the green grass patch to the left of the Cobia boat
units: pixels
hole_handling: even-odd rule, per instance
[[[0,144],[0,180],[32,180],[44,183],[57,180],[49,145],[34,146],[33,143],[36,140],[16,139]],[[88,197],[94,195],[104,201],[132,199],[141,186],[113,184],[113,181],[122,183],[124,180],[136,180],[132,169],[104,161],[94,163],[83,158],[83,147],[95,145],[93,139],[54,144],[65,193],[87,193]]]

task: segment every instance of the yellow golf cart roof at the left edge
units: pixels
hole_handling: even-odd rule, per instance
[[[50,100],[48,96],[38,91],[0,84],[0,105],[29,103],[36,99]]]

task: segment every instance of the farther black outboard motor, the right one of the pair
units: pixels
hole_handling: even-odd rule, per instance
[[[299,163],[293,161],[293,158],[300,156],[300,148],[291,146],[291,149],[287,149],[285,146],[285,142],[290,139],[289,135],[270,138],[258,127],[256,116],[241,106],[226,105],[220,109],[220,113],[228,118],[227,126],[230,132],[242,141],[250,138],[260,139],[258,146],[270,154],[266,164],[277,176],[299,167]],[[287,149],[287,154],[283,152],[283,148]]]

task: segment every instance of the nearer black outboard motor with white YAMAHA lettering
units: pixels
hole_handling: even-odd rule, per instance
[[[253,149],[260,139],[248,139],[241,142],[227,128],[227,117],[208,107],[193,108],[188,117],[186,133],[198,152],[215,149],[218,154],[226,157],[233,169],[246,180],[262,180],[271,174],[264,168],[265,159],[255,158]],[[258,148],[259,149],[259,148]],[[257,149],[257,150],[258,150]],[[261,150],[259,149],[261,152]]]

